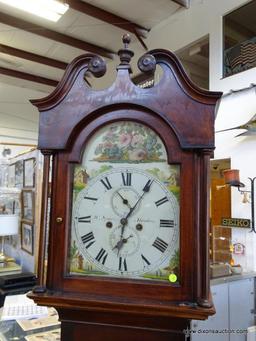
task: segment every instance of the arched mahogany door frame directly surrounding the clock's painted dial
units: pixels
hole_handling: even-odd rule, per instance
[[[136,122],[143,123],[149,126],[151,129],[154,129],[156,133],[161,136],[163,141],[165,142],[168,148],[168,159],[170,163],[180,164],[181,169],[187,168],[192,169],[193,166],[193,157],[188,152],[181,152],[177,145],[177,140],[173,136],[173,132],[166,127],[166,125],[159,119],[148,113],[141,113],[137,110],[111,110],[110,113],[105,113],[101,115],[98,119],[94,119],[92,123],[89,123],[82,129],[79,136],[75,138],[75,143],[73,144],[73,148],[67,153],[59,153],[57,157],[58,168],[56,173],[56,189],[54,189],[54,196],[56,198],[70,198],[70,194],[72,193],[72,182],[73,173],[72,173],[72,163],[78,162],[80,163],[80,159],[76,158],[76,155],[81,155],[83,150],[83,146],[86,144],[87,137],[91,136],[95,129],[102,127],[103,124],[113,122],[114,120],[135,120]],[[54,181],[54,182],[55,182]],[[190,183],[193,183],[193,173],[185,174],[181,172],[181,188],[188,187]],[[186,191],[185,191],[186,193]],[[192,192],[185,194],[183,190],[181,190],[181,207],[182,211],[186,211],[186,214],[182,214],[181,212],[181,231],[183,226],[191,226],[193,222],[193,212],[192,206],[190,203],[194,200],[192,196]],[[63,205],[60,200],[57,200],[53,207],[52,214],[61,217],[66,217],[67,224],[65,227],[60,225],[56,225],[55,234],[52,236],[53,240],[51,245],[53,248],[55,245],[58,245],[58,250],[50,250],[50,252],[54,252],[54,263],[51,263],[50,269],[52,269],[52,281],[53,283],[60,283],[61,290],[66,292],[72,292],[73,288],[76,288],[77,293],[87,293],[87,294],[98,294],[101,295],[102,292],[104,294],[115,295],[119,297],[127,297],[127,292],[129,292],[130,297],[133,299],[142,298],[143,299],[154,299],[156,295],[156,287],[161,290],[161,298],[165,300],[179,300],[179,301],[187,301],[193,298],[193,286],[189,283],[193,282],[193,245],[191,245],[191,240],[193,240],[192,229],[188,228],[185,238],[183,238],[183,233],[181,236],[181,253],[184,254],[185,250],[190,254],[186,259],[182,259],[181,261],[181,283],[178,285],[174,285],[172,288],[171,283],[154,283],[154,281],[140,281],[140,280],[129,280],[118,279],[118,278],[104,278],[104,277],[84,277],[81,276],[72,276],[67,275],[67,267],[68,264],[68,246],[67,241],[69,241],[69,226],[71,224],[71,212],[72,206],[71,201],[69,201],[68,205]],[[56,211],[57,212],[56,212]],[[64,223],[62,223],[64,224]],[[60,230],[63,229],[63,232]],[[63,257],[63,251],[65,252],[65,257]],[[184,251],[183,251],[184,250]],[[184,261],[185,260],[185,261]],[[60,267],[62,264],[62,268]],[[49,275],[50,270],[49,269]],[[63,279],[63,274],[66,274]],[[51,276],[50,276],[51,277]],[[108,287],[109,284],[109,287]],[[50,285],[50,282],[49,282]],[[157,297],[158,299],[158,297]]]

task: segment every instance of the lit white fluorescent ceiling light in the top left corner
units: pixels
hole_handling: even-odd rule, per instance
[[[51,21],[58,21],[69,8],[67,4],[56,0],[0,0],[0,3]]]

